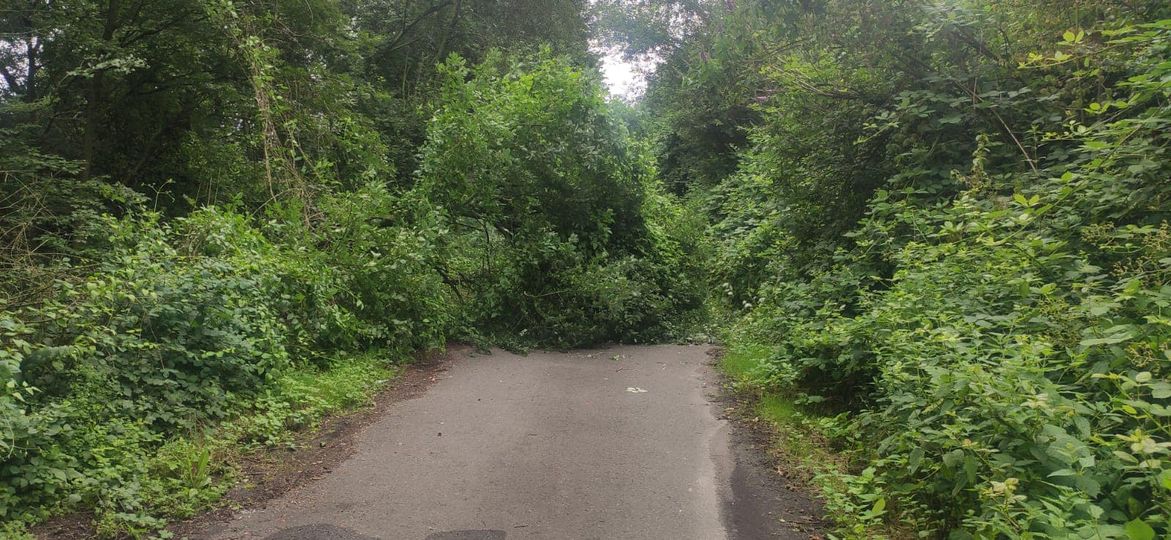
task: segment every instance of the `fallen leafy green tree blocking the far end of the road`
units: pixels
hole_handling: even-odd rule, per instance
[[[443,70],[417,193],[450,231],[466,324],[519,346],[680,334],[703,305],[699,224],[676,226],[598,82],[548,52]]]

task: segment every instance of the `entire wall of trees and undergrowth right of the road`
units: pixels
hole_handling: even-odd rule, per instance
[[[840,534],[1169,534],[1165,2],[664,6],[649,131]]]

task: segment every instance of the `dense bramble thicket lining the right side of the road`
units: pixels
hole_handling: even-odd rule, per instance
[[[972,96],[947,88],[959,68],[937,67],[862,115],[872,134],[851,144],[881,138],[903,170],[828,244],[792,221],[823,204],[804,191],[822,184],[782,166],[804,158],[783,153],[787,137],[810,135],[772,127],[802,110],[762,109],[740,172],[708,199],[715,278],[741,309],[733,347],[767,347],[752,377],[847,412],[837,444],[857,469],[822,478],[842,534],[1171,531],[1169,46],[1169,20],[1066,32],[1056,53],[988,67],[1020,87],[966,111]],[[991,108],[1030,130],[981,129]],[[963,136],[966,164],[923,152]]]

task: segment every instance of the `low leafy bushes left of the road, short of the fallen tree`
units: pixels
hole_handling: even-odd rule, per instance
[[[287,408],[271,392],[294,364],[441,346],[446,292],[419,260],[424,233],[367,220],[389,205],[381,187],[333,196],[328,238],[269,233],[280,244],[217,209],[93,224],[94,266],[57,268],[50,298],[5,315],[5,514],[62,503],[133,514],[144,495],[125,491],[149,476],[150,449]]]

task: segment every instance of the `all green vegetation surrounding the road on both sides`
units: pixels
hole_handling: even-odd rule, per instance
[[[0,532],[153,534],[451,339],[714,314],[840,535],[1171,534],[1169,57],[1153,0],[16,2]]]

